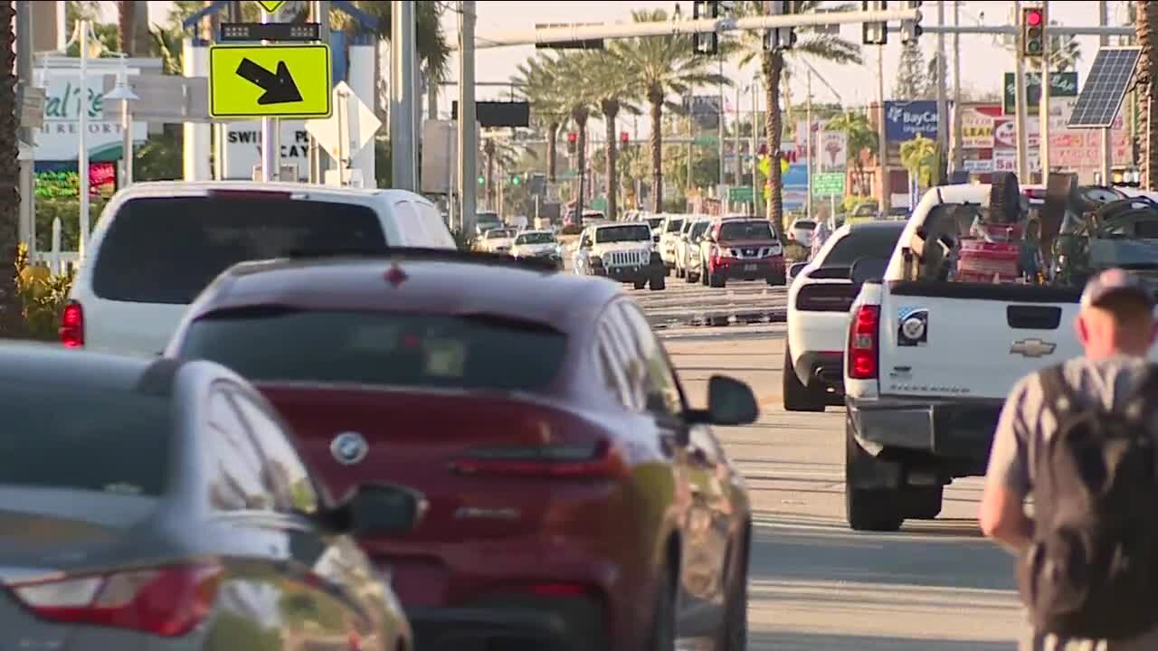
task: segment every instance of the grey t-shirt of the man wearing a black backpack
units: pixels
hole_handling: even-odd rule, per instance
[[[1098,400],[1107,409],[1123,409],[1134,396],[1139,382],[1145,378],[1150,363],[1141,357],[1114,357],[1090,360],[1084,357],[1065,363],[1064,374],[1070,387],[1078,395]],[[994,447],[989,454],[987,482],[999,482],[1023,498],[1033,493],[1034,459],[1033,445],[1053,434],[1057,420],[1045,401],[1041,376],[1032,373],[1023,378],[1005,400]],[[1155,431],[1158,431],[1156,427]],[[1142,651],[1158,649],[1158,630],[1130,641],[1113,641],[1108,644],[1087,639],[1040,639],[1036,645],[1023,641],[1023,649],[1108,649],[1109,651]],[[1043,645],[1043,646],[1041,646]]]

